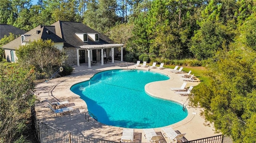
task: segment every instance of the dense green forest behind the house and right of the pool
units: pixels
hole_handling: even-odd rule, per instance
[[[0,0],[1,24],[29,31],[58,20],[124,44],[124,61],[205,67],[210,82],[193,90],[190,104],[235,143],[256,142],[255,0]]]

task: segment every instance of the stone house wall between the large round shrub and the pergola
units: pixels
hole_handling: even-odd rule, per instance
[[[66,65],[77,65],[76,63],[76,48],[75,47],[65,47],[64,51],[68,58],[65,61]]]

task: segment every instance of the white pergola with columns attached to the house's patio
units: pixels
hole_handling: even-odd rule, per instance
[[[93,49],[101,49],[101,65],[104,65],[104,53],[103,50],[104,49],[108,49],[111,48],[111,58],[112,58],[112,63],[114,63],[114,48],[116,47],[121,47],[121,61],[123,61],[123,46],[124,44],[103,44],[103,45],[83,45],[83,46],[78,46],[78,48],[76,48],[76,57],[77,57],[77,66],[79,65],[79,49],[80,48],[84,48],[87,49],[88,51],[88,68],[91,68],[91,57],[92,57],[92,50]],[[80,47],[80,48],[79,48]]]

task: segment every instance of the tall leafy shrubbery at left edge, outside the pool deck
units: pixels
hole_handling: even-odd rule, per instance
[[[0,63],[0,142],[28,142],[30,107],[34,104],[34,70]]]

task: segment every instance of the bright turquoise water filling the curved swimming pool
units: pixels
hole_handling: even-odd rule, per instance
[[[188,115],[181,104],[145,93],[147,83],[168,79],[157,72],[118,69],[99,72],[70,90],[80,95],[88,111],[101,123],[137,129],[155,128],[176,123]]]

